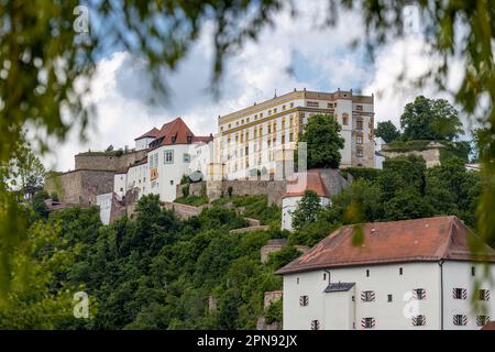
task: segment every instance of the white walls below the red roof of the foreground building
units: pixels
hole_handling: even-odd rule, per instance
[[[473,289],[469,262],[446,262],[443,275],[440,265],[432,263],[403,263],[389,265],[371,265],[336,268],[330,271],[332,283],[355,283],[355,328],[362,329],[362,318],[375,318],[375,329],[441,329],[441,276],[443,276],[443,329],[480,329],[476,326],[476,314],[469,314],[472,306],[470,300],[458,300],[452,297],[452,287],[466,288],[468,293]],[[403,275],[399,275],[399,267]],[[366,270],[370,276],[366,276]],[[491,268],[495,274],[494,266]],[[348,329],[346,318],[349,309],[342,302],[342,298],[334,293],[326,294],[324,288],[328,279],[323,279],[324,271],[290,274],[284,276],[284,329],[307,330],[310,329],[311,320],[320,320],[321,329]],[[482,270],[476,273],[482,275]],[[328,274],[327,274],[328,275]],[[494,277],[494,276],[493,276]],[[299,278],[299,284],[297,284]],[[328,278],[328,277],[327,277]],[[426,299],[411,299],[411,290],[415,288],[426,289]],[[488,288],[493,293],[493,285],[484,283],[482,288]],[[375,301],[361,301],[361,293],[364,290],[375,292]],[[299,297],[309,296],[307,307],[299,306]],[[393,301],[387,301],[387,295],[392,295]],[[487,302],[487,315],[495,316],[494,298]],[[417,308],[417,310],[415,310]],[[405,312],[416,311],[415,315],[426,316],[426,326],[415,327],[411,317]],[[453,324],[453,315],[468,315],[468,324],[459,327]],[[338,318],[336,318],[338,316]],[[329,317],[333,317],[330,319]],[[337,327],[334,321],[341,321]]]

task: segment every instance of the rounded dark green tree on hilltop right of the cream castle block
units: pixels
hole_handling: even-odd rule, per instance
[[[400,128],[405,140],[453,141],[464,133],[458,110],[444,99],[424,96],[406,105]]]

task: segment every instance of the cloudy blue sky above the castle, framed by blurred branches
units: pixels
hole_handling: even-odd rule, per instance
[[[413,31],[392,42],[371,62],[361,47],[351,47],[364,33],[359,13],[344,12],[337,26],[321,30],[327,3],[314,0],[310,9],[299,7],[297,18],[288,11],[278,13],[273,28],[263,30],[256,42],[246,43],[228,58],[217,98],[210,86],[212,48],[208,29],[178,69],[165,77],[169,96],[156,105],[150,103],[153,90],[142,64],[127,52],[108,53],[97,64],[87,97],[97,113],[87,131],[88,141],[80,142],[74,129],[64,143],[53,142],[54,152],[43,157],[46,168],[74,169],[75,154],[105,150],[110,144],[133,147],[134,138],[176,117],[182,117],[197,135],[216,133],[218,116],[294,88],[374,94],[375,123],[392,120],[397,127],[404,106],[418,95],[452,100],[429,88],[398,86],[396,77],[403,70],[416,77],[433,62],[422,53],[419,34]],[[458,86],[461,78],[451,77],[451,86]]]

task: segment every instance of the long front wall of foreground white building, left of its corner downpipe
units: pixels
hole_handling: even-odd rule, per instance
[[[399,267],[403,267],[403,275],[399,275]],[[369,277],[366,277],[366,270],[370,270]],[[330,271],[332,283],[355,283],[354,322],[356,329],[362,329],[362,318],[375,318],[375,329],[438,329],[440,327],[439,273],[437,263],[375,265]],[[326,294],[323,292],[328,285],[328,279],[323,279],[323,271],[315,271],[284,276],[284,329],[307,330],[310,329],[310,322],[314,319],[320,320],[321,329],[329,329],[326,317],[329,315],[349,316],[346,307],[339,308],[338,305],[334,305],[336,311],[326,311],[327,297],[334,293]],[[297,285],[297,277],[299,277],[299,285]],[[427,299],[404,300],[405,295],[410,294],[415,288],[425,288]],[[374,290],[375,301],[361,301],[363,290]],[[309,296],[308,307],[299,307],[299,296],[301,295]],[[387,295],[393,295],[392,302],[387,301]],[[418,314],[427,316],[425,327],[414,327],[411,318],[404,316],[403,309],[410,302],[419,304]],[[348,329],[348,324],[340,329]]]

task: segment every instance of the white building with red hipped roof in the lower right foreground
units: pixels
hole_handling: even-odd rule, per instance
[[[457,217],[362,230],[362,245],[342,227],[277,272],[284,329],[465,330],[495,316],[495,251]],[[469,243],[481,251],[473,254]]]

